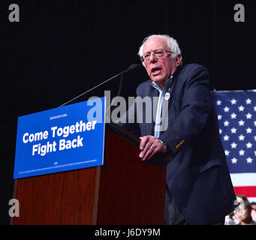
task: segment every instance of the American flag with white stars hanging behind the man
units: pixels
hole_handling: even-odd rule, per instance
[[[212,92],[236,194],[256,202],[256,90]]]

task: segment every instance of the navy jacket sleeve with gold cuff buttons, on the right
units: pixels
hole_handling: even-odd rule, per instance
[[[171,156],[198,136],[213,107],[209,89],[209,73],[206,68],[198,66],[186,77],[185,81],[182,79],[180,81],[182,83],[176,83],[184,84],[180,112],[174,121],[168,122],[167,130],[159,137],[167,143]]]

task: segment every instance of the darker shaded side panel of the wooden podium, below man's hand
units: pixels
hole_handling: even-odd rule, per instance
[[[115,133],[106,138],[97,224],[163,224],[165,167],[143,163],[140,150]]]

